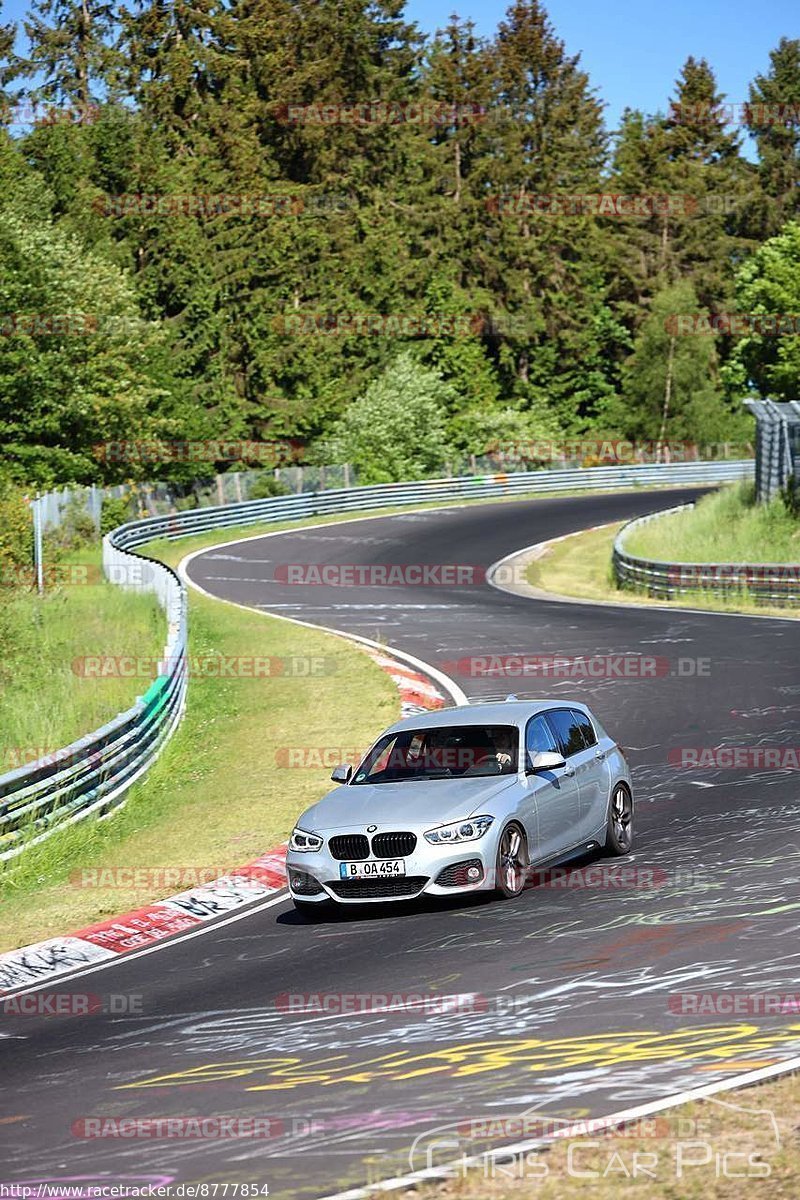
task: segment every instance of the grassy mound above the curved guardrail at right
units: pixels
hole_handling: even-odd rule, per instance
[[[669,563],[798,563],[800,521],[780,497],[757,504],[753,485],[744,484],[639,526],[626,536],[625,548]]]

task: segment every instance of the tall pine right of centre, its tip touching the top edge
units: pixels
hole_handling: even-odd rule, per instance
[[[597,191],[606,154],[601,106],[537,0],[509,10],[492,60],[485,186],[500,218],[486,212],[474,253],[492,294],[493,349],[510,394],[548,397],[561,422],[575,427],[582,414],[564,364],[587,353],[593,338],[601,251],[593,218],[569,208],[570,197]],[[565,204],[545,211],[530,203],[536,197]]]

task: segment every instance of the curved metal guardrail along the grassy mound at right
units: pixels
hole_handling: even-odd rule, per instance
[[[764,605],[790,606],[800,601],[799,564],[666,563],[661,559],[639,558],[625,550],[625,540],[632,529],[691,508],[691,504],[680,504],[674,509],[636,517],[622,526],[612,552],[614,577],[620,587],[646,592],[660,600],[673,600],[692,592],[709,592],[712,595],[746,592],[748,598]]]

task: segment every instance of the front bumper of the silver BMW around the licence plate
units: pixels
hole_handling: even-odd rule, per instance
[[[333,858],[327,842],[314,853],[289,851],[289,892],[293,898],[308,904],[324,904],[327,900],[337,904],[385,904],[391,900],[413,900],[420,895],[449,896],[491,890],[494,887],[497,862],[497,844],[492,833],[489,829],[476,841],[446,847],[432,846],[419,834],[416,848],[403,858],[405,875],[367,880],[342,880],[342,860]],[[371,856],[367,862],[380,859]],[[470,868],[480,871],[480,878],[470,877]]]

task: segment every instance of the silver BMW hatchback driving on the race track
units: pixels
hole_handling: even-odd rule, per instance
[[[295,906],[516,896],[534,868],[633,846],[625,755],[585,704],[507,701],[409,716],[302,814]]]

